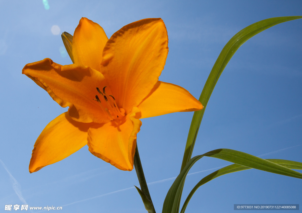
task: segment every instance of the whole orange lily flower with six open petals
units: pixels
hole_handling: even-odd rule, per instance
[[[139,118],[203,108],[184,88],[158,80],[168,55],[168,34],[160,18],[130,23],[110,39],[100,25],[82,18],[72,55],[74,64],[45,58],[22,70],[60,106],[69,107],[38,137],[30,173],[86,144],[93,155],[131,171]]]

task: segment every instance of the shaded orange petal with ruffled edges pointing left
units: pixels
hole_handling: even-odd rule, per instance
[[[104,76],[99,71],[84,67],[82,64],[62,66],[45,58],[25,65],[22,73],[33,79],[39,86],[45,85],[48,93],[50,93],[49,88],[50,96],[59,104],[59,101],[63,102],[61,106],[68,105],[69,115],[75,121],[85,123],[110,121],[99,103],[93,100],[98,94],[96,87],[107,86]]]

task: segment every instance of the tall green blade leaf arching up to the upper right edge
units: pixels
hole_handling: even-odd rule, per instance
[[[287,16],[287,17],[275,17],[275,18],[268,18],[256,23],[253,23],[249,25],[248,27],[244,28],[243,30],[240,30],[235,36],[233,36],[229,42],[226,43],[226,45],[223,47],[222,51],[220,52],[211,72],[210,75],[204,85],[204,88],[201,92],[201,95],[199,97],[199,101],[202,103],[204,108],[200,111],[194,112],[190,130],[188,133],[188,139],[185,147],[185,153],[182,160],[182,167],[181,171],[185,168],[185,165],[188,163],[188,161],[191,159],[192,152],[194,149],[195,140],[198,134],[198,130],[200,127],[200,123],[202,120],[202,117],[204,115],[204,111],[207,107],[207,103],[210,99],[210,96],[213,92],[213,89],[222,73],[224,68],[226,67],[226,64],[230,61],[232,56],[235,54],[235,52],[239,49],[241,45],[243,45],[244,42],[246,42],[248,39],[252,38],[256,34],[262,32],[263,30],[266,30],[276,24],[291,21],[295,19],[300,19],[302,16]]]

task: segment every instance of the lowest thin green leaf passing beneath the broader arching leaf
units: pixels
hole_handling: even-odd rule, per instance
[[[290,169],[300,169],[302,170],[302,163],[300,162],[296,162],[296,161],[288,161],[288,160],[281,160],[281,159],[266,159],[267,161],[271,161],[275,164],[279,164],[281,166],[284,166],[286,168],[290,168]],[[201,181],[199,181],[196,186],[194,186],[194,188],[192,189],[192,191],[189,193],[187,199],[184,202],[184,205],[182,206],[182,210],[180,211],[180,213],[184,213],[185,209],[187,208],[187,205],[191,199],[191,197],[193,196],[193,194],[196,192],[196,190],[202,186],[203,184],[209,182],[210,180],[215,179],[216,177],[219,177],[221,175],[224,174],[229,174],[232,172],[238,172],[238,171],[243,171],[243,170],[247,170],[247,169],[251,169],[249,167],[246,166],[241,166],[238,164],[232,164],[229,166],[226,166],[224,168],[221,168],[209,175],[207,175],[206,177],[202,178]]]

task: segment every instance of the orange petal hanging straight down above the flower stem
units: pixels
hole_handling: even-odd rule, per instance
[[[137,133],[142,122],[135,118],[139,113],[134,107],[130,114],[121,120],[107,124],[96,124],[88,130],[89,151],[120,170],[131,171],[135,154]]]

